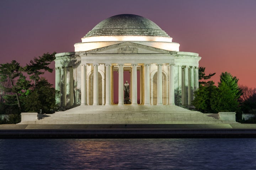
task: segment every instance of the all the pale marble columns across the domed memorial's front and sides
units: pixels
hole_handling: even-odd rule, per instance
[[[93,66],[93,105],[99,105],[98,101],[98,63],[90,64]],[[112,64],[106,63],[105,65],[105,105],[111,105],[111,67]],[[151,89],[157,91],[157,105],[163,105],[162,97],[162,66],[166,64],[156,64],[157,66],[157,89]],[[124,94],[123,94],[123,67],[124,64],[118,64],[118,105],[124,104]],[[151,64],[145,63],[144,66],[144,105],[152,105],[150,103],[150,66]],[[87,64],[81,64],[81,105],[87,105]],[[137,105],[137,67],[138,64],[131,64],[132,67],[132,105]],[[175,104],[175,64],[168,64],[168,93],[169,102],[167,104]],[[182,105],[191,105],[193,100],[193,93],[198,88],[198,67],[194,66],[182,66]],[[74,104],[74,78],[73,78],[73,68],[72,67],[56,67],[55,68],[55,89],[60,91],[60,97],[56,98],[57,104],[61,106],[73,105]]]

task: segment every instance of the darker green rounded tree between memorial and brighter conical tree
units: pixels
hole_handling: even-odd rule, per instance
[[[213,93],[217,90],[213,81],[209,81],[204,86],[199,84],[199,88],[194,92],[194,100],[192,104],[195,108],[203,113],[215,113],[216,111],[211,108],[211,99]]]

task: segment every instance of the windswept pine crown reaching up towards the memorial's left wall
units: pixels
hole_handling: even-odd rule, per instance
[[[40,75],[43,75],[44,72],[49,71],[53,72],[53,68],[50,68],[48,65],[55,60],[56,52],[49,54],[43,54],[42,56],[34,57],[33,60],[30,60],[30,64],[26,65],[26,71],[30,75],[30,79],[34,81],[34,86],[40,79]]]

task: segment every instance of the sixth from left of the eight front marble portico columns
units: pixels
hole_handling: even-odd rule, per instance
[[[144,95],[145,102],[144,105],[150,105],[150,74],[149,74],[149,66],[150,64],[144,64],[145,66],[145,84],[144,84]]]

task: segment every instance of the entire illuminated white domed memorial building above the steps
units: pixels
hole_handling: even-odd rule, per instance
[[[124,71],[130,73],[132,105],[138,101],[191,105],[201,57],[179,51],[180,44],[154,22],[138,15],[116,15],[98,23],[81,40],[74,45],[75,52],[55,55],[59,105],[113,105],[114,93],[118,93],[118,105],[123,105]],[[118,88],[114,88],[115,78]]]

